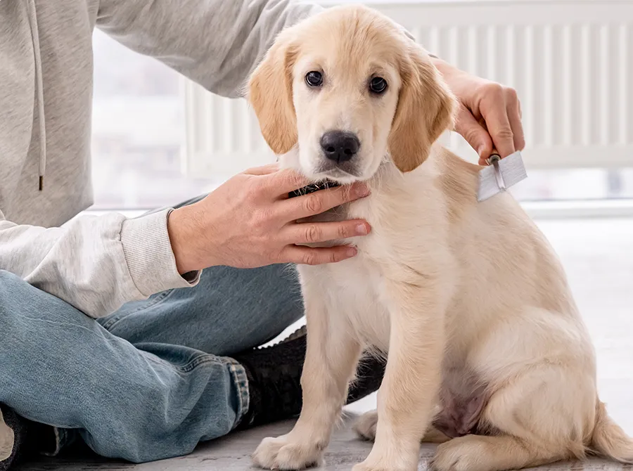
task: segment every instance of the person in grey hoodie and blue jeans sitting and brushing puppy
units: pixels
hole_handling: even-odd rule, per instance
[[[77,437],[102,456],[179,456],[300,411],[305,334],[257,347],[302,316],[286,264],[355,255],[296,244],[371,230],[295,221],[363,198],[362,184],[287,199],[305,181],[262,167],[175,209],[67,221],[91,205],[95,26],[238,96],[276,34],[319,10],[289,0],[0,0],[0,469],[20,450],[54,454]],[[457,129],[482,159],[493,146],[523,147],[516,93],[435,63],[461,101]],[[383,368],[365,361],[348,400],[375,391]]]

